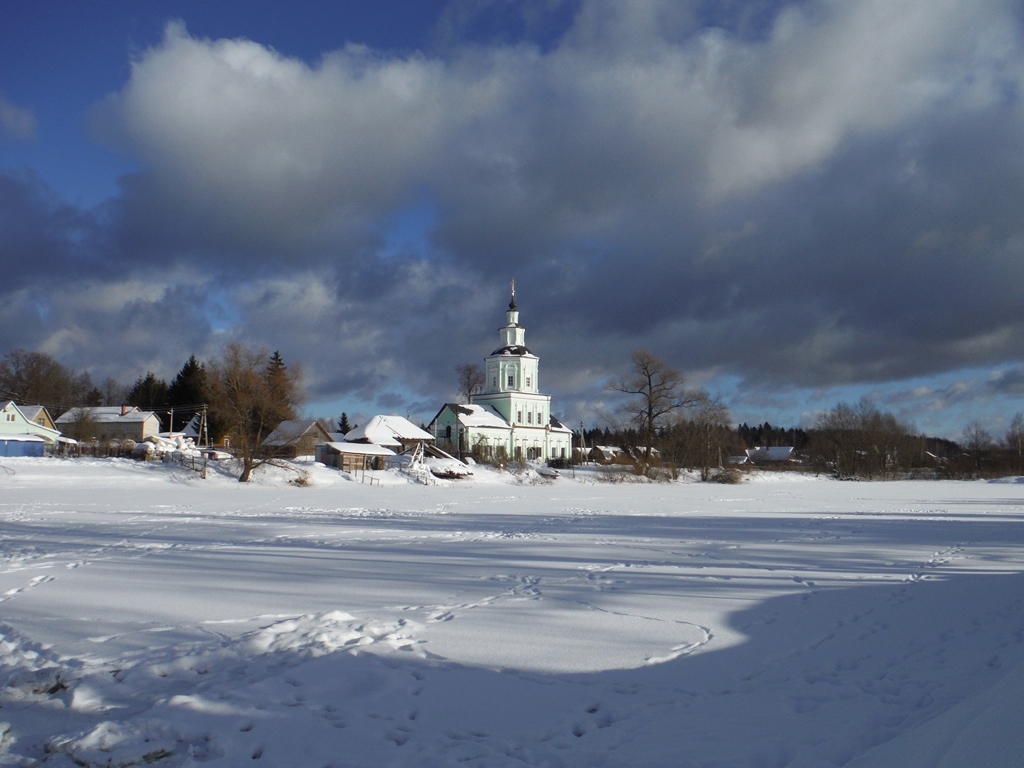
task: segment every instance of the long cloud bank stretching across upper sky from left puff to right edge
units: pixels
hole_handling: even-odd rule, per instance
[[[801,4],[767,40],[670,40],[688,29],[674,14],[688,17],[595,0],[548,52],[349,45],[315,67],[171,25],[108,109],[162,205],[294,246],[359,230],[420,186],[476,217],[601,232],[638,191],[719,200],[813,167],[851,135],[977,108],[1016,78],[1002,3]],[[983,54],[983,41],[1001,44]]]

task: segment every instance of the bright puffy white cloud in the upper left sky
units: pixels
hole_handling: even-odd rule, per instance
[[[172,25],[105,110],[174,204],[228,231],[315,241],[406,198],[437,154],[441,86],[425,59],[348,47],[310,68]]]

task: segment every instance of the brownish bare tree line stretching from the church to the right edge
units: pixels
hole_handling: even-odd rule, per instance
[[[837,403],[806,429],[767,422],[731,426],[720,399],[687,387],[678,371],[649,350],[634,352],[629,373],[607,388],[629,399],[607,418],[608,426],[585,430],[585,442],[626,449],[638,473],[682,467],[705,480],[729,478],[730,457],[788,446],[805,468],[841,478],[1024,474],[1024,414],[1016,414],[998,436],[972,421],[961,440],[921,434],[866,399]]]

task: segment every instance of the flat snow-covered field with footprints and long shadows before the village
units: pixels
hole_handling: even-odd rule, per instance
[[[0,765],[1024,764],[1024,484],[306,468],[3,460]]]

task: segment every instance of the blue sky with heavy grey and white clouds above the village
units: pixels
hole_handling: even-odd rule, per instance
[[[1024,7],[0,4],[0,355],[241,341],[429,420],[516,281],[553,413],[647,348],[736,423],[1024,411]]]

